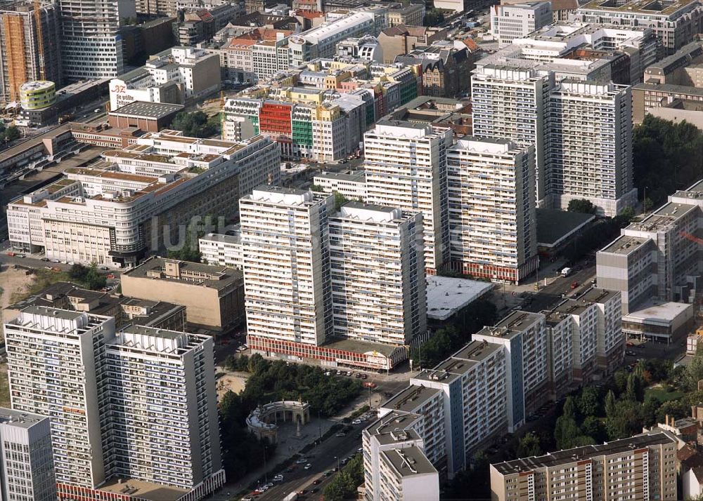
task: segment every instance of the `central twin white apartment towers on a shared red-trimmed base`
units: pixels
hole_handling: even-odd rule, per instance
[[[404,352],[426,332],[419,213],[357,202],[335,211],[333,195],[262,186],[240,199],[240,222],[232,251],[254,351],[327,359],[351,350],[344,363],[377,364],[362,353]],[[353,342],[323,346],[335,339]]]

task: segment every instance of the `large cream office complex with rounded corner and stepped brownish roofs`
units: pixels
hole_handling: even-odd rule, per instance
[[[263,182],[278,182],[275,143],[147,133],[103,161],[70,168],[66,178],[8,204],[14,248],[46,257],[129,267],[167,245],[203,214],[232,215],[236,200]]]

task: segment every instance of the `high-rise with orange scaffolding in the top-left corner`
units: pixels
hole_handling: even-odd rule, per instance
[[[63,81],[58,9],[53,2],[5,2],[0,23],[0,102],[19,102],[20,86],[27,81]]]

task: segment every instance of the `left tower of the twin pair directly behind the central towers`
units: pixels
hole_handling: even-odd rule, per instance
[[[423,214],[430,273],[449,260],[446,152],[451,134],[428,124],[382,120],[363,137],[366,201]]]

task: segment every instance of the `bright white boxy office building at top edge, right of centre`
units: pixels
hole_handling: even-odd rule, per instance
[[[552,4],[548,1],[491,6],[491,34],[501,45],[550,25],[552,20]]]

